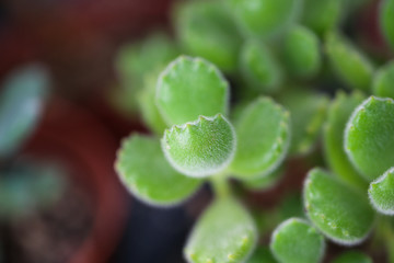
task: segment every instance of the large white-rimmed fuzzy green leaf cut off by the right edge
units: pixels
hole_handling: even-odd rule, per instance
[[[394,165],[394,101],[370,96],[351,115],[345,150],[355,167],[372,181]]]

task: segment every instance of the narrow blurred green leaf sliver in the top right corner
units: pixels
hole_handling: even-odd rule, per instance
[[[380,27],[394,50],[394,0],[383,0],[380,8]]]

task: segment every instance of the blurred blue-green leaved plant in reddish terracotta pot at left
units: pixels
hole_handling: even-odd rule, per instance
[[[116,140],[88,111],[48,96],[48,84],[38,67],[24,68],[3,83],[5,259],[106,262],[128,209],[113,171]]]

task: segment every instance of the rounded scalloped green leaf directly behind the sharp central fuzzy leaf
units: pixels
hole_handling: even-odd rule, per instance
[[[160,76],[157,104],[169,125],[192,122],[199,115],[227,115],[229,83],[207,60],[181,56]]]

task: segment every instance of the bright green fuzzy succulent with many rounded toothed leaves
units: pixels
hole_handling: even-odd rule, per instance
[[[159,207],[204,183],[215,192],[185,244],[188,262],[317,263],[329,245],[366,242],[332,262],[394,263],[393,61],[340,31],[364,4],[185,1],[173,12],[176,44],[154,35],[123,49],[119,66],[135,76],[125,98],[137,94],[152,134],[123,141],[120,179]],[[380,10],[389,44],[393,4]],[[322,85],[329,92],[312,88]],[[243,193],[275,187],[294,161],[310,169],[300,193],[247,209]]]

